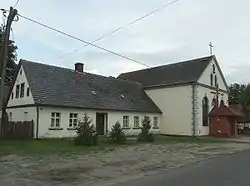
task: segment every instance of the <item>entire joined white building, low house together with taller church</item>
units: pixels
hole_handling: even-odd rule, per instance
[[[217,85],[217,86],[216,86]],[[218,87],[218,88],[216,88]],[[154,133],[209,134],[208,113],[228,88],[215,56],[123,73],[118,78],[20,60],[7,104],[12,121],[34,120],[34,136],[71,137],[85,113],[98,134],[119,121],[137,134],[144,116]]]

